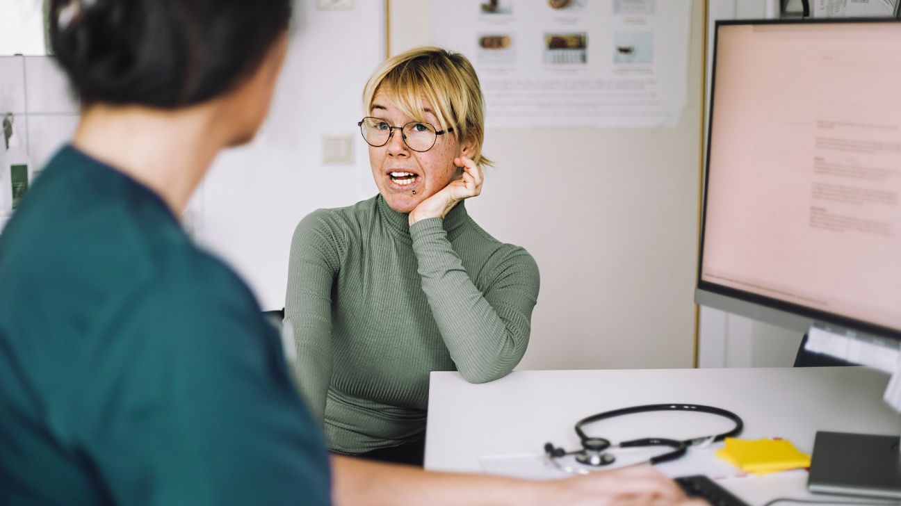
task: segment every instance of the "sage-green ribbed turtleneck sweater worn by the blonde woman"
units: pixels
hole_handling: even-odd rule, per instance
[[[286,325],[293,371],[329,447],[359,454],[425,429],[429,373],[483,383],[523,357],[538,266],[459,203],[407,225],[380,195],[300,221]]]

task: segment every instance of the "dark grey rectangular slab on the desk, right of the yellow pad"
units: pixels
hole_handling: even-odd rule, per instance
[[[867,497],[901,498],[897,436],[817,431],[807,489]]]

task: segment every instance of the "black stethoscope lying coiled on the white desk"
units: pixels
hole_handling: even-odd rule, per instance
[[[594,423],[599,420],[611,419],[617,416],[623,415],[631,415],[635,413],[643,413],[648,411],[693,411],[698,413],[709,413],[713,415],[718,415],[729,420],[732,420],[735,426],[727,432],[723,432],[722,434],[714,434],[712,436],[704,436],[701,438],[691,438],[691,439],[669,439],[669,438],[641,438],[641,439],[632,439],[629,441],[623,441],[618,444],[611,444],[608,439],[605,438],[591,438],[585,434],[585,431],[582,429],[589,423]],[[566,451],[561,447],[554,447],[552,443],[547,443],[544,445],[544,454],[548,457],[549,460],[554,465],[557,465],[563,471],[567,473],[576,473],[576,474],[585,474],[588,471],[585,469],[573,469],[568,466],[561,466],[557,461],[558,458],[562,456],[574,455],[576,456],[576,461],[579,464],[600,467],[604,465],[610,465],[614,463],[616,457],[612,454],[606,453],[606,450],[609,448],[634,448],[634,447],[670,447],[672,448],[669,452],[652,456],[646,461],[643,461],[639,464],[660,464],[660,462],[667,462],[669,460],[675,460],[680,456],[685,455],[688,450],[688,447],[697,445],[700,443],[714,443],[716,441],[722,441],[725,438],[732,438],[733,436],[738,436],[742,433],[742,429],[744,428],[744,422],[742,418],[732,411],[727,411],[721,408],[714,408],[713,406],[704,406],[701,404],[645,404],[643,406],[633,406],[631,408],[623,408],[620,410],[614,411],[604,411],[603,413],[597,413],[595,415],[591,415],[589,417],[583,418],[582,420],[578,420],[576,422],[576,434],[578,435],[579,440],[582,443],[581,449],[574,451]]]

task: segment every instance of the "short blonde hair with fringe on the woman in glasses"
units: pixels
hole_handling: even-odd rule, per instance
[[[433,46],[408,50],[385,60],[363,88],[363,107],[369,113],[372,100],[383,90],[401,111],[417,122],[426,122],[423,99],[432,104],[440,130],[453,128],[460,141],[476,145],[477,165],[491,166],[482,154],[485,140],[485,104],[476,70],[460,53]]]

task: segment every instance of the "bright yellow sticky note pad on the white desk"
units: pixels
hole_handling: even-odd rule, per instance
[[[716,451],[716,456],[754,474],[810,467],[810,456],[787,439],[726,438],[725,446]]]

